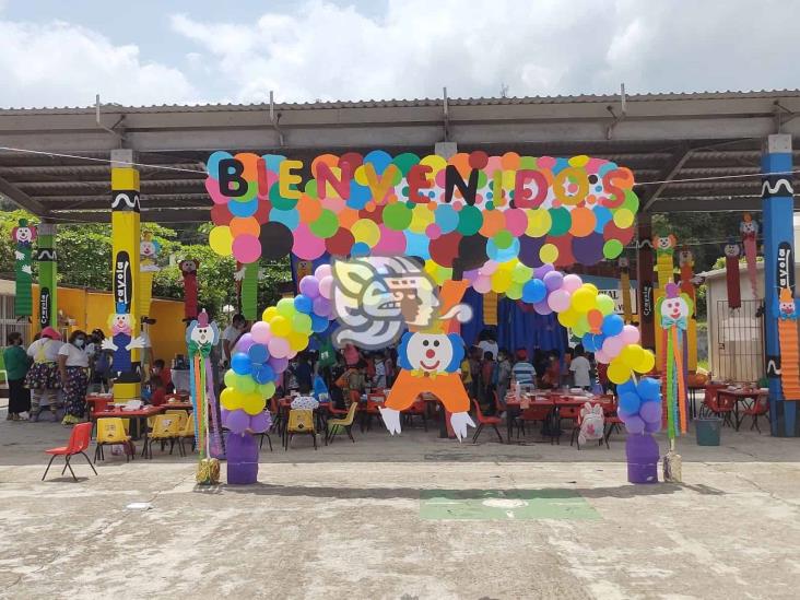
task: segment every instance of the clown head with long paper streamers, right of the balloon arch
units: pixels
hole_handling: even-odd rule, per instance
[[[658,299],[656,309],[660,315],[659,325],[662,330],[664,355],[662,362],[662,379],[664,390],[664,420],[667,435],[670,439],[686,433],[686,377],[684,374],[683,332],[692,313],[692,301],[681,294],[674,283],[667,284],[664,296]]]

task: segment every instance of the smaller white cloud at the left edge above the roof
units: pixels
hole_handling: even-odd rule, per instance
[[[0,20],[0,106],[86,106],[97,93],[126,105],[197,97],[179,70],[81,26]]]

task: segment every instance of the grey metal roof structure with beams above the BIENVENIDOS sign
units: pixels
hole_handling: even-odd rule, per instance
[[[758,211],[763,140],[800,136],[799,115],[799,90],[10,108],[0,109],[0,146],[16,151],[0,150],[0,195],[55,222],[105,222],[107,161],[126,148],[149,165],[141,167],[144,221],[205,222],[203,161],[214,150],[308,164],[327,152],[430,154],[450,141],[460,151],[614,161],[634,172],[649,212]]]

